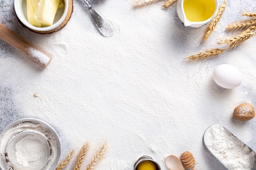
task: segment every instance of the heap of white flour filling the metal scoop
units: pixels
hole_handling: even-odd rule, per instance
[[[208,128],[204,144],[229,170],[251,170],[254,166],[254,152],[223,126]]]

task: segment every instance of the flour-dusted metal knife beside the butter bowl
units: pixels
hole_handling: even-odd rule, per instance
[[[92,5],[88,0],[81,0],[81,1],[85,5],[86,9],[90,11],[92,15],[92,19],[96,24],[97,28],[99,29],[99,32],[105,37],[111,37],[114,34],[114,31],[110,26],[110,24],[105,20],[103,20],[103,18],[101,18],[101,16],[96,11],[94,11],[94,9],[92,8]]]

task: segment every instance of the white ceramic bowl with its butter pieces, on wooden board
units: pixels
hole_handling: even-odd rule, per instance
[[[69,11],[69,0],[14,0],[20,22],[38,33],[58,31]]]

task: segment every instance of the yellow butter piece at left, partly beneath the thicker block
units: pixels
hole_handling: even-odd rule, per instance
[[[41,26],[35,19],[35,11],[40,0],[27,0],[27,20],[34,26]]]

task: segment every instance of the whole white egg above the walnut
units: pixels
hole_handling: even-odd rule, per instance
[[[242,82],[240,71],[229,64],[221,64],[213,71],[213,80],[223,88],[236,88]]]

